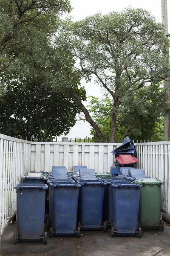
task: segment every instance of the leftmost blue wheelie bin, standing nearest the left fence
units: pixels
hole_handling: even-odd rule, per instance
[[[15,186],[17,192],[17,226],[14,233],[14,244],[17,241],[38,240],[47,243],[47,232],[44,233],[45,192],[46,184],[20,183]]]

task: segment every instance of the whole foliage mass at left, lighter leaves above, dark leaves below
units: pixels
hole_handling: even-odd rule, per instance
[[[79,113],[65,87],[85,100],[69,50],[53,45],[68,0],[0,0],[0,132],[12,136],[68,133]]]

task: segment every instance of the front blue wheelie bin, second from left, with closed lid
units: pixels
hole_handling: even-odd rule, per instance
[[[67,182],[51,182],[52,227],[50,238],[53,236],[80,237],[80,227],[77,227],[77,207],[79,188],[74,180]]]

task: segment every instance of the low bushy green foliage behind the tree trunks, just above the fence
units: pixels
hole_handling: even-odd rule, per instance
[[[116,122],[116,142],[129,136],[133,140],[162,140],[162,118],[166,94],[160,83],[152,83],[124,96]],[[113,100],[91,97],[88,110],[99,125],[106,139],[110,136],[110,120]],[[160,131],[158,132],[158,127]],[[91,129],[95,138],[95,131]]]

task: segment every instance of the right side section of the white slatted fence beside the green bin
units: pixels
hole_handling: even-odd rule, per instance
[[[158,178],[162,186],[162,210],[170,215],[170,141],[136,143],[138,168],[148,177]]]

